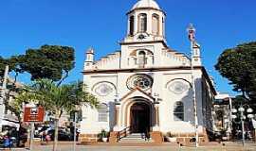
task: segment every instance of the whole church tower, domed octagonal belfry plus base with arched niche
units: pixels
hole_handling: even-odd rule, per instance
[[[155,0],[138,0],[127,12],[127,34],[121,45],[121,68],[152,68],[161,64],[166,13]]]

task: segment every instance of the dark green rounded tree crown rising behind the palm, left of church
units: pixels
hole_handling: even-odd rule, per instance
[[[74,49],[68,46],[43,45],[28,49],[21,56],[20,67],[31,75],[31,80],[48,78],[62,83],[75,66]]]

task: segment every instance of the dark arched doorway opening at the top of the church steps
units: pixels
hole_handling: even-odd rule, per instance
[[[150,106],[143,102],[135,103],[130,110],[130,124],[133,133],[145,133],[150,130]]]

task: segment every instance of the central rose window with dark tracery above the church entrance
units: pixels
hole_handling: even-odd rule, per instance
[[[127,80],[127,87],[132,90],[135,88],[140,88],[142,90],[148,90],[153,85],[153,79],[151,76],[147,75],[136,75],[131,76]]]

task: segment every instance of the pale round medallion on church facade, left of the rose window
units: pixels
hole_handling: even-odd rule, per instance
[[[113,91],[113,88],[108,83],[100,83],[94,90],[94,92],[96,92],[99,96],[107,96]]]

